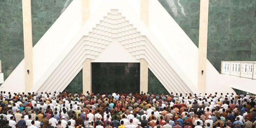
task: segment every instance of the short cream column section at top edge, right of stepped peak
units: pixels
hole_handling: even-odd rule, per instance
[[[149,9],[149,0],[140,1],[140,18],[146,26],[148,26],[148,9]]]

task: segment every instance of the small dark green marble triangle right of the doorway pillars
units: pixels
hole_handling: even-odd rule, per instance
[[[149,94],[155,93],[160,94],[164,93],[167,94],[168,91],[164,88],[161,82],[157,79],[157,77],[148,69],[148,92]]]

